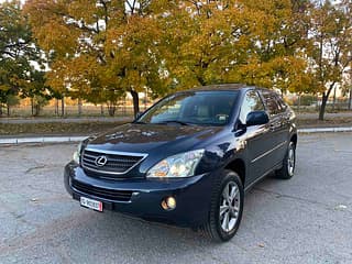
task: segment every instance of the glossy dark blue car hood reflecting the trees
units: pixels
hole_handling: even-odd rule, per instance
[[[131,153],[180,153],[221,130],[221,127],[129,123],[94,138],[88,147]]]

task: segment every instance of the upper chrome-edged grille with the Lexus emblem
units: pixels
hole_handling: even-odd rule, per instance
[[[143,160],[145,155],[124,155],[123,153],[113,152],[98,152],[92,150],[85,150],[81,157],[82,167],[101,174],[124,174],[134,167],[139,162]],[[98,164],[98,160],[102,157],[106,162],[103,165]]]

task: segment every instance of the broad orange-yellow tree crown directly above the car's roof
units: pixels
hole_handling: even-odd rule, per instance
[[[179,1],[162,18],[173,86],[244,82],[306,91],[306,1]],[[164,20],[164,21],[163,21]]]

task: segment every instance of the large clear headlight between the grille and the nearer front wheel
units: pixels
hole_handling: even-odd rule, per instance
[[[205,150],[169,156],[154,165],[146,174],[148,178],[182,178],[194,176]]]

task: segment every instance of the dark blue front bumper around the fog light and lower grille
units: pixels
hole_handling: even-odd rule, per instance
[[[81,196],[102,201],[103,209],[119,211],[148,221],[158,221],[180,227],[197,227],[207,221],[215,173],[183,179],[123,180],[88,176],[75,163],[65,167],[66,190],[74,199]],[[84,186],[85,188],[82,188]],[[162,200],[168,196],[176,199],[174,210],[164,210]]]

